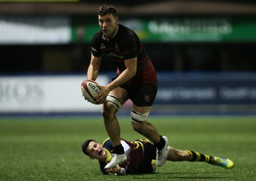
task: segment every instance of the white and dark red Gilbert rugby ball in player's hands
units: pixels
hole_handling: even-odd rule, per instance
[[[97,83],[95,83],[95,81],[83,81],[81,84],[81,91],[86,100],[88,100],[92,104],[97,104],[94,97],[100,93],[100,88],[97,86]]]

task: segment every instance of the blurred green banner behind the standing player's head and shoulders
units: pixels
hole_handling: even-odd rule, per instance
[[[122,19],[142,42],[255,42],[256,18],[140,17]],[[99,31],[97,18],[72,20],[72,41],[90,42]]]

